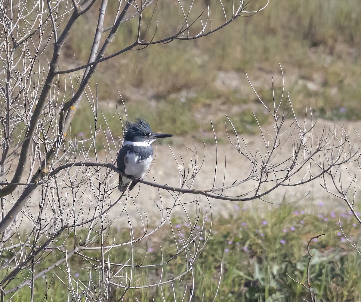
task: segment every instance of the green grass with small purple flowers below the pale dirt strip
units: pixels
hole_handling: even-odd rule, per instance
[[[351,214],[331,212],[328,206],[321,204],[313,206],[316,213],[310,213],[310,210],[305,210],[302,206],[277,206],[262,215],[252,208],[240,207],[242,204],[235,204],[230,217],[214,219],[210,234],[202,234],[204,238],[207,238],[207,235],[209,237],[194,265],[195,293],[192,301],[213,301],[221,266],[221,283],[215,301],[309,300],[308,291],[291,280],[287,274],[306,284],[307,242],[319,234],[325,235],[310,244],[313,257],[309,270],[310,283],[316,290],[318,301],[356,301],[361,298],[361,255],[347,243],[338,225],[340,219],[345,234],[358,244],[360,225],[355,224]],[[173,219],[175,234],[187,234],[189,227],[181,222],[182,219],[178,219]],[[206,224],[207,227],[210,226],[209,222]],[[137,232],[138,230],[135,230],[135,234]],[[129,240],[129,231],[111,229],[105,237],[106,244],[114,240],[117,243],[125,242]],[[74,239],[70,236],[66,241],[69,248],[72,240]],[[78,240],[81,240],[79,235]],[[133,263],[159,263],[162,256],[167,259],[174,254],[175,243],[170,226],[163,228],[155,241],[148,239],[147,244],[143,241],[134,245]],[[100,257],[97,251],[87,251],[85,254],[93,258]],[[125,262],[130,255],[129,247],[109,250],[107,253],[109,260],[119,263]],[[4,258],[10,256],[2,255]],[[40,266],[46,267],[54,258],[60,256],[61,254],[54,250],[49,254],[49,259]],[[164,268],[163,275],[171,278],[182,272],[186,266],[183,256],[173,259]],[[74,286],[77,282],[80,282],[79,285],[83,284],[81,287],[86,286],[89,272],[93,276],[92,280],[98,277],[99,269],[88,262],[84,263],[78,256],[69,259],[69,264]],[[116,267],[110,269],[113,271]],[[38,267],[38,271],[40,270],[41,267]],[[65,285],[62,284],[67,276],[64,265],[53,272],[55,274],[47,274],[46,280],[36,280],[35,301],[42,301],[46,282],[52,301],[64,301],[67,293]],[[129,276],[130,271],[124,268],[122,273]],[[132,274],[133,285],[145,285],[158,280],[160,271],[159,268],[151,267],[135,268]],[[14,280],[11,285],[17,282]],[[191,274],[186,275],[183,281],[174,282],[177,299],[181,299],[184,292],[186,297],[189,296],[191,282]],[[123,294],[123,290],[116,287],[110,290],[114,299]],[[13,301],[27,301],[28,295],[29,289],[23,288]],[[134,297],[137,297],[138,301],[163,301],[162,296],[165,301],[173,301],[170,285],[163,286],[163,294],[160,288],[129,290],[123,301],[134,301]]]

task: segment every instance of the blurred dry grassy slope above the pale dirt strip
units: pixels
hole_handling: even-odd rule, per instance
[[[108,9],[112,5],[116,9],[115,2]],[[194,16],[199,14],[207,3],[214,28],[224,22],[218,0],[196,1],[192,11]],[[251,1],[247,10],[257,10],[265,3]],[[223,5],[231,16],[232,1],[223,1]],[[152,7],[144,18],[150,18]],[[76,34],[67,40],[62,58],[64,66],[87,62],[97,13],[92,12],[93,18],[86,14],[74,28]],[[210,119],[216,131],[221,130],[227,114],[239,133],[250,134],[257,131],[253,113],[261,124],[271,122],[245,72],[262,100],[271,105],[272,75],[278,101],[282,93],[280,64],[285,92],[290,93],[297,114],[304,116],[309,105],[319,118],[360,119],[360,15],[358,0],[273,0],[261,12],[238,18],[212,35],[151,45],[101,63],[90,88],[97,91],[106,119],[114,110],[124,116],[121,95],[130,120],[142,116],[155,131],[211,142]],[[183,12],[177,1],[158,1],[154,24],[156,19],[155,38],[166,37],[177,32]],[[121,26],[109,53],[134,42],[137,22],[134,18]],[[147,40],[152,34],[150,28]],[[86,102],[82,106],[71,128],[86,138],[90,137],[86,125],[92,111]],[[122,136],[118,119],[110,120],[109,126],[114,136]]]

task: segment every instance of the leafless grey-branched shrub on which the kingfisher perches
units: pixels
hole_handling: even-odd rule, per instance
[[[290,99],[283,93],[279,100],[273,100],[272,108],[260,99],[273,117],[274,128],[272,133],[260,128],[262,142],[257,150],[247,146],[231,120],[226,123],[229,141],[239,155],[237,160],[249,164],[247,176],[226,181],[223,173],[219,181],[217,171],[226,169],[220,167],[217,151],[211,176],[213,185],[200,190],[193,183],[202,166],[208,163],[204,163],[197,150],[193,150],[189,160],[191,168],[183,157],[174,155],[178,187],[142,181],[143,187],[159,189],[155,206],[161,218],[156,227],[149,226],[134,199],[114,191],[119,173],[114,166],[119,137],[106,136],[104,152],[98,154],[100,133],[110,132],[107,122],[99,124],[97,94],[88,88],[92,75],[101,62],[129,50],[197,39],[240,16],[257,12],[247,11],[243,1],[228,6],[220,2],[225,19],[214,25],[208,6],[193,12],[193,3],[179,1],[181,24],[175,25],[178,29],[173,34],[158,37],[156,4],[152,0],[120,1],[110,10],[106,0],[0,3],[1,301],[10,301],[14,295],[29,291],[30,300],[34,301],[37,284],[44,286],[44,299],[57,284],[68,289],[64,301],[115,301],[126,297],[127,292],[136,296],[144,290],[152,296],[153,288],[163,293],[166,287],[178,300],[190,300],[195,288],[193,267],[206,244],[212,222],[211,213],[201,211],[199,196],[225,201],[262,200],[279,187],[299,186],[326,176],[337,187],[333,171],[358,159],[359,147],[349,141],[341,126],[324,129],[316,136],[312,113],[307,112],[309,118],[297,119]],[[72,68],[62,66],[66,39],[73,34],[79,18],[95,8],[99,14],[87,63]],[[109,52],[110,43],[125,22],[135,24],[134,42]],[[70,122],[84,101],[90,103],[94,121],[92,136],[86,140],[69,134]],[[113,119],[119,124],[125,122],[117,114]],[[280,158],[278,151],[286,147],[291,150],[289,156]],[[354,179],[352,182],[356,183]],[[328,190],[326,182],[320,183]],[[338,192],[346,200],[347,191]],[[173,200],[171,206],[162,203],[166,194]],[[129,216],[126,204],[136,208],[138,217]],[[191,212],[188,204],[193,207]],[[349,206],[352,208],[351,203]],[[181,234],[173,225],[171,214],[175,209],[183,212],[187,234]],[[133,227],[134,219],[142,221],[141,231]],[[119,230],[121,236],[110,232],[116,220],[126,222],[126,228]],[[162,260],[148,263],[149,238],[160,236],[160,230],[167,224],[172,226],[171,236],[177,249],[161,250]],[[168,274],[167,267],[179,259],[184,270],[177,275]],[[82,279],[74,275],[74,261],[83,265]],[[157,274],[149,273],[149,278],[144,278],[150,270]],[[181,279],[190,280],[182,294],[176,288]]]

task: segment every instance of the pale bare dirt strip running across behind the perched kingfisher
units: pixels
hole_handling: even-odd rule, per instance
[[[286,138],[290,133],[290,130],[292,129],[291,122],[291,120],[286,121],[284,125],[286,132],[284,132],[282,137]],[[334,125],[335,123],[330,121],[321,119],[317,120],[314,128],[314,136],[320,136],[324,129],[333,129]],[[361,144],[356,131],[360,129],[361,121],[347,121],[341,125],[343,125],[344,133],[340,131],[339,125],[337,133],[338,137],[344,137],[345,133],[347,133],[349,135],[350,142],[355,142],[355,145],[352,147],[352,151],[358,152],[357,150]],[[267,132],[271,134],[274,131],[272,125],[265,126],[262,130],[265,134]],[[222,135],[225,136],[226,133],[218,133],[218,136]],[[243,145],[247,144],[252,154],[256,154],[256,152],[259,152],[261,155],[266,154],[264,147],[265,144],[260,134],[245,135],[243,138]],[[231,141],[235,141],[235,136],[231,137]],[[316,139],[314,142],[316,142]],[[222,187],[223,184],[225,186],[229,186],[236,181],[246,178],[252,171],[251,163],[247,161],[245,157],[240,155],[230,142],[218,144],[217,147],[215,144],[208,144],[204,147],[204,145],[199,141],[193,142],[190,138],[186,139],[184,137],[176,136],[173,138],[171,146],[158,144],[154,147],[156,157],[145,180],[155,181],[156,183],[162,185],[167,184],[174,187],[180,186],[180,181],[183,177],[180,176],[178,166],[181,168],[183,173],[185,169],[186,175],[191,173],[193,166],[197,165],[197,167],[200,168],[194,178],[192,188],[201,190],[212,188],[213,182],[217,188]],[[116,158],[117,150],[113,151],[113,158]],[[198,155],[197,161],[195,160],[196,152]],[[277,154],[274,156],[273,164],[282,162],[284,159],[292,155],[292,153],[292,144],[286,143],[285,145],[282,145],[282,147],[278,149]],[[216,157],[218,158],[217,168],[215,165]],[[203,165],[201,165],[202,162]],[[356,171],[358,164],[358,161],[347,163],[340,170],[344,187],[350,181],[348,172],[352,173]],[[300,181],[300,179],[305,176],[306,170],[307,167],[302,169],[300,173],[293,178],[293,183]],[[215,174],[216,179],[214,181]],[[318,180],[322,182],[321,178]],[[103,205],[107,206],[109,203],[114,203],[114,201],[116,201],[120,196],[120,192],[116,188],[118,184],[118,175],[115,173],[113,174],[113,182],[110,182],[109,184],[109,188],[112,193],[110,194],[110,200],[108,201],[103,201],[101,199],[97,200],[94,197],[89,197],[91,196],[92,190],[89,187],[89,182],[92,182],[93,184],[96,184],[97,182],[99,183],[96,177],[91,177],[90,181],[84,183],[80,190],[77,191],[77,201],[74,204],[71,202],[70,198],[71,191],[68,189],[69,191],[64,193],[64,196],[62,196],[62,201],[64,203],[63,210],[64,213],[68,213],[65,216],[71,217],[71,215],[75,213],[78,222],[84,219],[92,218],[96,214],[99,214],[101,210],[99,204],[104,203]],[[330,185],[330,183],[330,179],[327,179],[327,184]],[[242,195],[245,192],[253,190],[256,185],[257,184],[255,182],[247,181],[235,188],[225,191],[224,194],[230,196]],[[272,183],[265,184],[262,187],[262,191],[268,190],[271,186],[273,186]],[[25,216],[23,216],[22,220],[17,221],[17,225],[21,228],[29,227],[30,217],[33,217],[32,219],[36,219],[36,213],[39,212],[40,192],[41,190],[35,191],[32,194],[26,208],[24,209]],[[16,200],[16,196],[14,195],[13,197],[14,200]],[[66,197],[69,198],[66,199]],[[112,226],[119,228],[129,227],[130,225],[132,227],[142,227],[142,225],[152,227],[160,225],[162,221],[166,220],[165,218],[170,212],[170,217],[172,219],[176,219],[177,221],[187,221],[190,219],[192,221],[197,213],[201,214],[201,219],[203,219],[203,216],[210,218],[211,215],[213,217],[217,217],[219,215],[229,216],[234,213],[235,210],[242,210],[242,208],[257,211],[258,213],[264,213],[265,209],[277,208],[277,206],[282,206],[280,204],[289,203],[303,205],[305,212],[311,213],[317,208],[314,205],[318,205],[321,202],[327,205],[323,207],[324,210],[331,211],[335,209],[342,209],[343,211],[348,211],[347,205],[344,201],[332,196],[330,193],[327,193],[326,190],[323,189],[316,181],[291,187],[281,186],[264,196],[263,200],[256,199],[253,201],[241,202],[207,199],[204,196],[193,194],[175,195],[174,193],[166,190],[158,190],[155,187],[140,184],[135,186],[135,188],[130,192],[129,197],[122,197],[122,199],[119,200],[116,205],[102,217],[102,219],[103,222],[108,222],[109,224],[112,224]],[[8,205],[10,206],[10,204]],[[44,223],[49,223],[49,225],[51,225],[57,215],[59,215],[58,212],[59,211],[56,210],[56,206],[52,206],[49,203],[47,210],[43,214]],[[55,226],[56,223],[54,227]]]

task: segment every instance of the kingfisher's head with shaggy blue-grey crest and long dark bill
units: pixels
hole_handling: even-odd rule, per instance
[[[151,144],[157,138],[170,137],[173,134],[153,133],[148,122],[141,117],[136,118],[136,123],[127,122],[123,134],[124,141],[144,142]]]

